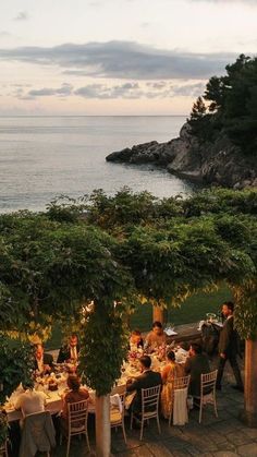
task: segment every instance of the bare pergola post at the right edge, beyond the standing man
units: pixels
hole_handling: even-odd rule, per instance
[[[245,408],[244,423],[257,428],[257,339],[245,341]]]

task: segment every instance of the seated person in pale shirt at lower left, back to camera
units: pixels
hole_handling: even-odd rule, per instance
[[[47,395],[44,392],[33,390],[32,385],[24,386],[25,392],[20,394],[15,404],[15,409],[21,409],[23,416],[45,411]]]

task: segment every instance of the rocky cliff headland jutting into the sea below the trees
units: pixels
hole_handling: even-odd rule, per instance
[[[242,189],[257,187],[257,163],[245,157],[231,141],[222,134],[215,142],[200,142],[191,134],[185,123],[178,139],[168,143],[138,144],[112,153],[108,161],[127,164],[152,164],[166,167],[170,173],[205,184]]]

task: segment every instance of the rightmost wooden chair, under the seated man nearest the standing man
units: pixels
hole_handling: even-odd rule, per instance
[[[216,381],[218,370],[200,375],[200,396],[194,396],[199,405],[199,423],[201,422],[203,408],[207,404],[213,405],[215,416],[218,418],[217,401],[216,401]]]

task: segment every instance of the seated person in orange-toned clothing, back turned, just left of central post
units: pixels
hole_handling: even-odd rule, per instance
[[[68,404],[75,404],[77,401],[87,400],[89,398],[88,390],[85,387],[81,387],[81,380],[76,374],[70,374],[66,381],[70,392],[64,395],[63,408],[62,408],[62,425],[66,425],[68,419]]]

